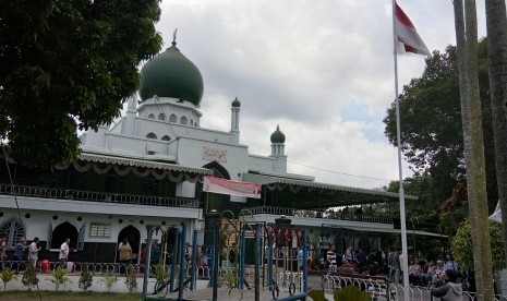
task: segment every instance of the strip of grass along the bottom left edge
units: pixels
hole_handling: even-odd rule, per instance
[[[112,293],[112,292],[71,292],[71,291],[40,291],[40,299],[44,301],[80,301],[80,300],[122,300],[138,301],[141,293]],[[2,291],[2,301],[37,301],[40,300],[36,291]]]

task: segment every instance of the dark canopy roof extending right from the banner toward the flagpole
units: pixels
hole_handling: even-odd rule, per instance
[[[243,180],[263,184],[271,191],[276,202],[273,206],[318,209],[399,201],[398,193],[268,174],[245,173]],[[417,201],[418,197],[405,195],[405,200]]]

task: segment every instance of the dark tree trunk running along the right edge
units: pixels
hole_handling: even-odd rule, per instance
[[[507,220],[507,13],[505,0],[486,0],[490,89],[495,137],[496,181],[502,220]],[[507,257],[507,224],[503,227]]]

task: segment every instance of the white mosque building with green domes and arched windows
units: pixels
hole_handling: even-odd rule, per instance
[[[318,233],[323,245],[338,242],[339,250],[379,244],[361,242],[363,232],[398,231],[389,213],[382,218],[326,214],[329,207],[393,203],[398,194],[287,172],[290,137],[276,124],[265,137],[268,155],[250,154],[240,143],[241,98],[231,96],[230,129],[204,129],[203,92],[200,70],[172,41],[142,68],[141,88],[128,100],[126,112],[82,134],[77,161],[41,170],[8,158],[13,182],[2,165],[0,233],[9,248],[24,236],[38,237],[41,256],[56,261],[60,244],[71,238],[72,261],[116,262],[118,243],[128,238],[135,262],[146,225],[171,229],[183,222],[191,237],[210,229],[213,210],[267,224],[285,215],[294,227]],[[155,238],[171,243],[161,232]],[[204,234],[197,242],[204,243]]]

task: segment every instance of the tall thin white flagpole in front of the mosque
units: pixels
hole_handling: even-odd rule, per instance
[[[403,262],[401,268],[403,270],[403,296],[405,301],[410,300],[409,296],[409,254],[407,252],[407,221],[405,212],[405,191],[403,191],[403,172],[401,168],[401,125],[400,125],[400,104],[398,97],[398,38],[396,35],[396,0],[393,0],[393,52],[395,58],[395,93],[396,93],[396,137],[398,144],[398,180],[399,180],[399,202],[400,202],[400,226],[401,226],[401,254]],[[398,279],[395,279],[398,280]]]

